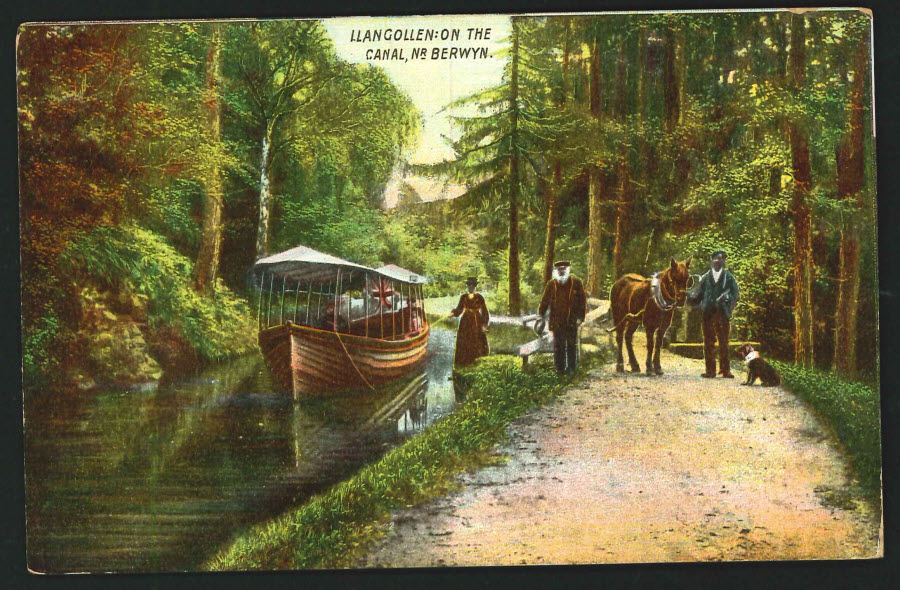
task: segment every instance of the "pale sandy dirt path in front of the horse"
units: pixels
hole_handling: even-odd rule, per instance
[[[638,348],[635,339],[636,350]],[[846,463],[781,388],[617,375],[514,423],[509,460],[393,515],[360,567],[841,559],[881,554],[879,517],[846,494]]]

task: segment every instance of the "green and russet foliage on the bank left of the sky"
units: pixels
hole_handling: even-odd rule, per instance
[[[57,317],[43,303],[52,291],[55,308],[77,307],[65,265],[113,298],[149,296],[154,331],[174,328],[202,359],[252,348],[246,303],[224,284],[204,301],[190,283],[204,193],[221,171],[229,272],[218,275],[243,288],[264,135],[274,242],[368,264],[384,257],[384,185],[418,113],[382,70],[338,59],[321,22],[25,27],[20,40],[29,375],[75,360],[51,340],[73,334],[77,314]],[[209,60],[220,46],[219,72]],[[216,104],[221,139],[209,119]]]

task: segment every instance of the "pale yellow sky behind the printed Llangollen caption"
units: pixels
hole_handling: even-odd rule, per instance
[[[478,90],[494,86],[501,81],[504,58],[496,52],[505,46],[509,35],[509,17],[502,15],[453,15],[453,16],[391,16],[352,17],[324,19],[323,24],[334,40],[338,55],[352,63],[370,63],[383,68],[394,83],[412,99],[422,114],[423,125],[417,146],[407,159],[411,163],[426,164],[440,162],[453,156],[452,150],[442,139],[442,135],[454,136],[446,111],[448,103],[468,96]],[[489,39],[469,39],[468,29],[490,28]],[[354,36],[366,31],[380,31],[391,34],[398,31],[417,34],[418,30],[439,33],[457,29],[456,41],[432,39],[430,41],[363,41],[355,42]],[[436,35],[437,36],[437,35]],[[428,59],[410,59],[414,48],[424,47]],[[486,59],[457,58],[431,59],[433,48],[480,48],[486,47]],[[367,50],[403,50],[407,61],[366,59]],[[372,56],[370,56],[372,57]]]

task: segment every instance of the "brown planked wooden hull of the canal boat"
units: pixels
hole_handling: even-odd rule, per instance
[[[403,340],[336,334],[288,322],[259,333],[269,370],[294,397],[369,389],[409,373],[425,360],[430,327]]]

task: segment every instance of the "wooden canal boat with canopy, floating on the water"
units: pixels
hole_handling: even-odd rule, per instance
[[[374,390],[424,362],[424,276],[306,246],[261,258],[254,275],[259,348],[295,398]]]

